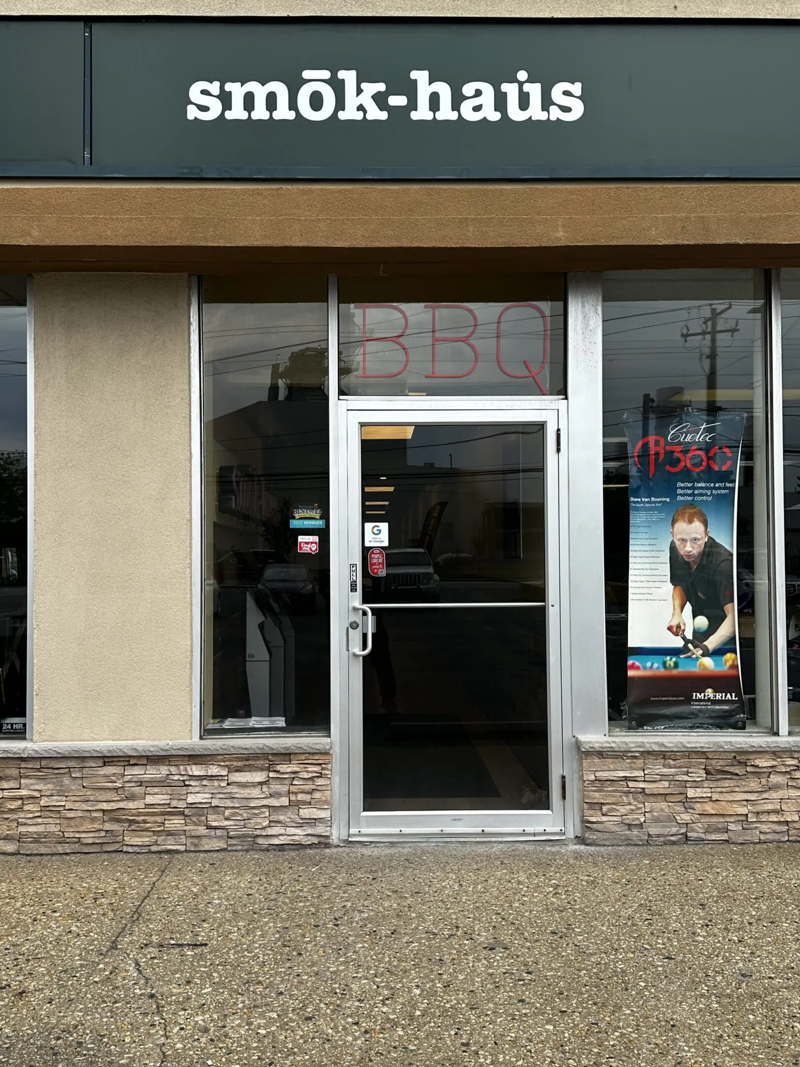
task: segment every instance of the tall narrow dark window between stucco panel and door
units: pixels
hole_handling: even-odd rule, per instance
[[[325,293],[204,280],[207,735],[330,726]]]

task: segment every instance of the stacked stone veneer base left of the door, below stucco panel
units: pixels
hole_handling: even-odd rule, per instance
[[[326,844],[331,757],[0,758],[0,853]]]

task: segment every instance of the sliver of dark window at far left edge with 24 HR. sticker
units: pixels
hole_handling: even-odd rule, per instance
[[[0,276],[0,736],[25,737],[28,631],[28,315]]]

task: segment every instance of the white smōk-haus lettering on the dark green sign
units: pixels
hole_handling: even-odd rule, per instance
[[[337,70],[336,78],[342,82],[337,96],[331,84],[330,70],[303,70],[303,84],[298,90],[294,106],[291,106],[289,86],[283,81],[195,81],[189,86],[188,120],[198,118],[209,123],[221,115],[228,122],[246,118],[263,122],[291,122],[298,115],[311,123],[322,123],[334,115],[340,122],[385,122],[389,117],[386,108],[409,107],[409,95],[390,93],[382,101],[379,96],[386,93],[383,81],[358,81],[357,70]],[[467,81],[461,89],[453,89],[446,81],[431,81],[429,70],[411,70],[409,78],[416,83],[416,94],[412,98],[409,113],[414,122],[457,122],[460,117],[468,123],[485,118],[496,123],[503,117],[515,123],[562,122],[574,123],[583,114],[579,81],[559,81],[549,90],[549,102],[545,100],[546,90],[542,82],[529,81],[527,70],[517,70],[515,81],[503,81],[496,90],[487,81]],[[229,106],[224,108],[222,93],[227,94]],[[455,97],[461,95],[463,99]],[[337,103],[340,105],[337,111]]]

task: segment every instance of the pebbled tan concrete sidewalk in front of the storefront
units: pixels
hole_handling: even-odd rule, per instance
[[[0,1064],[800,1064],[800,849],[3,858]]]

